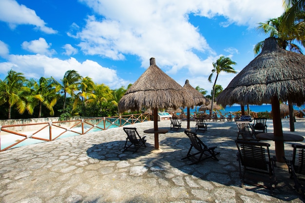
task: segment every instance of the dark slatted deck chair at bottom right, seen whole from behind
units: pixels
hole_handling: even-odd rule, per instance
[[[241,187],[248,180],[256,180],[256,183],[248,182],[251,185],[266,187],[259,185],[258,182],[267,182],[270,184],[271,192],[273,186],[277,185],[274,167],[276,166],[276,158],[270,157],[268,143],[249,142],[244,140],[235,140],[238,148],[239,175],[241,177]],[[243,166],[243,169],[242,169]]]

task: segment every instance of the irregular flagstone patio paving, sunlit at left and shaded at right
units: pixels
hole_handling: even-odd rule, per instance
[[[1,203],[302,203],[293,189],[287,169],[276,168],[279,184],[268,189],[239,187],[235,122],[207,122],[208,131],[198,135],[207,145],[216,145],[219,161],[205,160],[189,166],[185,157],[190,141],[187,126],[159,135],[161,153],[152,153],[153,122],[134,124],[146,135],[147,148],[122,153],[126,134],[122,127],[0,152]],[[282,121],[289,132],[289,120]],[[159,127],[169,128],[170,121]],[[268,132],[273,131],[267,121]],[[295,123],[305,136],[305,119]],[[195,129],[195,122],[191,122]],[[271,152],[274,143],[270,141]],[[292,154],[285,144],[286,157]],[[274,155],[274,154],[273,154]]]

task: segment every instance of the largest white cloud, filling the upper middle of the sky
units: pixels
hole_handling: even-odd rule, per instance
[[[278,0],[80,1],[97,14],[88,17],[86,26],[77,34],[70,33],[81,40],[78,46],[85,54],[113,60],[137,55],[144,68],[153,56],[158,65],[172,74],[183,68],[192,74],[204,72],[206,65],[210,67],[206,62],[217,55],[198,28],[189,22],[189,15],[222,16],[225,17],[222,26],[234,23],[253,28],[257,22],[283,13]],[[98,15],[103,18],[97,18]]]

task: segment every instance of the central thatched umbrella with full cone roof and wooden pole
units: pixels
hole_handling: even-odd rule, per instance
[[[118,109],[120,112],[152,109],[154,148],[158,149],[158,109],[178,109],[187,106],[194,106],[191,95],[165,74],[152,57],[150,67],[126,91],[119,101]]]

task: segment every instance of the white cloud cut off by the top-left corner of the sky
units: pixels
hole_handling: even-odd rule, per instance
[[[12,29],[17,25],[29,24],[47,34],[57,33],[57,31],[47,27],[34,10],[20,5],[16,0],[0,0],[0,20],[7,22]]]

